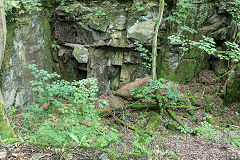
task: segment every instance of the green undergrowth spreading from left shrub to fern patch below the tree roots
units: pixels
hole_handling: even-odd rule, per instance
[[[112,159],[152,154],[149,147],[154,136],[139,129],[126,143],[123,141],[125,135],[98,115],[96,106],[102,108],[108,102],[96,97],[95,79],[68,82],[56,73],[38,70],[36,65],[30,65],[28,69],[34,76],[30,84],[36,102],[21,113],[20,125],[13,124],[24,143],[42,147],[97,148],[106,151]],[[15,111],[9,111],[9,116],[12,117]],[[16,141],[19,139],[11,138],[5,139],[4,143]],[[123,150],[115,146],[122,146]]]

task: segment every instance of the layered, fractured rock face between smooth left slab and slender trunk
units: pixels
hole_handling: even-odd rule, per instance
[[[76,5],[68,7],[73,6]],[[139,9],[139,6],[144,8]],[[64,7],[57,8],[54,24],[55,38],[61,45],[55,57],[59,68],[55,70],[65,79],[96,77],[100,92],[104,92],[147,72],[134,42],[150,48],[158,3],[104,1],[81,3],[74,9],[75,14],[68,14]],[[164,47],[161,42],[160,45]]]

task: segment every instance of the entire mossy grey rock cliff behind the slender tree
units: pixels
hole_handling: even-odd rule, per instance
[[[175,3],[167,2],[165,18],[174,12]],[[188,37],[197,40],[209,35],[217,42],[218,50],[225,49],[223,42],[238,33],[237,27],[231,24],[226,5],[222,1],[196,5],[195,19],[202,18],[203,22],[195,27],[199,32]],[[54,12],[49,14],[49,10]],[[157,1],[69,1],[62,6],[56,6],[54,1],[43,1],[43,8],[19,20],[21,25],[8,24],[7,52],[1,70],[1,89],[6,104],[17,107],[32,101],[28,84],[31,76],[25,70],[31,63],[56,71],[66,80],[95,77],[101,93],[144,76],[149,71],[142,64],[146,60],[136,50],[135,42],[151,52],[157,11]],[[162,22],[158,51],[162,55],[159,61],[165,64],[159,66],[158,74],[187,83],[202,69],[214,70],[217,75],[227,70],[226,62],[199,49],[183,53],[179,46],[171,45],[167,37],[176,30],[172,22]],[[236,85],[232,84],[226,83],[225,97],[235,94],[231,88]],[[228,103],[239,100],[240,94],[236,95]]]

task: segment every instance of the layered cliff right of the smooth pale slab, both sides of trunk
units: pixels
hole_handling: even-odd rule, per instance
[[[171,5],[164,15],[170,14]],[[189,37],[195,40],[212,34],[217,41],[226,40],[230,25],[229,15],[222,14],[226,10],[218,2],[197,5],[200,8],[198,12],[204,12],[208,17],[204,25],[199,26],[199,33]],[[146,67],[141,65],[144,60],[139,52],[134,51],[134,42],[151,48],[157,2],[108,0],[80,5],[73,3],[67,7],[74,12],[66,13],[66,6],[58,7],[54,24],[55,38],[61,46],[59,56],[55,57],[59,63],[56,70],[64,72],[65,79],[96,77],[101,84],[101,92],[104,92],[108,87],[117,88],[146,73]],[[197,14],[200,13],[196,13],[196,18],[201,18]],[[161,72],[158,74],[186,83],[200,70],[211,67],[210,56],[198,49],[183,54],[179,46],[170,45],[167,37],[176,31],[172,26],[170,22],[163,21],[160,28],[158,49],[162,55],[160,59],[166,63],[159,66]],[[69,64],[74,69],[69,68]],[[83,76],[78,76],[79,73]]]

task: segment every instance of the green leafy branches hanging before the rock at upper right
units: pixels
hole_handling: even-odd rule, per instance
[[[203,35],[202,39],[193,40],[193,36],[191,35],[197,33],[194,28],[201,25],[206,19],[206,10],[204,8],[206,8],[207,2],[204,1],[202,5],[203,8],[201,8],[201,12],[199,12],[197,17],[195,16],[195,13],[197,12],[197,5],[195,5],[195,3],[197,3],[197,1],[179,0],[176,5],[176,11],[172,16],[166,18],[166,20],[173,23],[173,26],[177,26],[177,32],[168,37],[170,43],[178,46],[182,50],[182,56],[185,52],[193,48],[198,48],[202,51],[202,53],[205,52],[207,54],[217,56],[219,59],[228,60],[230,63],[239,63],[240,46],[237,44],[237,39],[240,37],[240,33],[236,35],[233,42],[225,42],[227,47],[226,51],[217,51],[214,39],[211,37]],[[230,0],[227,1],[225,5],[227,12],[232,16],[232,23],[239,27],[239,1]],[[197,23],[196,19],[199,19]],[[228,75],[228,73],[231,73],[238,65],[239,64],[235,65],[231,70],[217,79]]]

